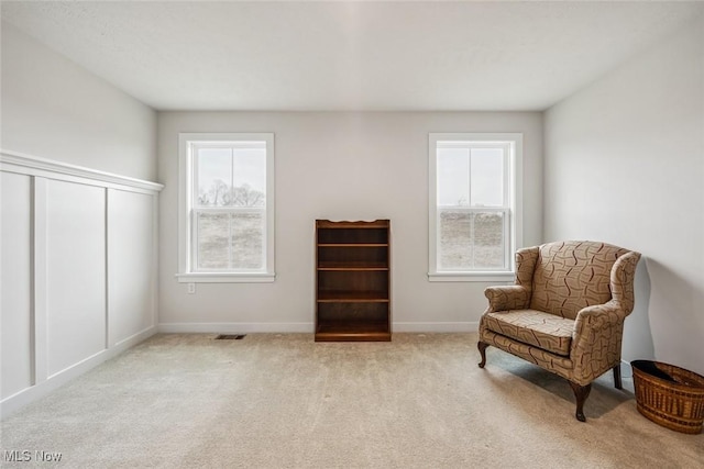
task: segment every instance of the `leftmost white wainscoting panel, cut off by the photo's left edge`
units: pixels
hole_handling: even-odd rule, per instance
[[[0,256],[1,398],[32,386],[32,181],[24,175],[0,172],[2,236]]]

